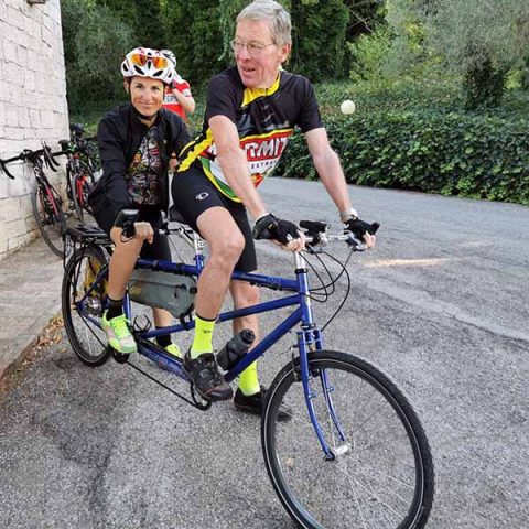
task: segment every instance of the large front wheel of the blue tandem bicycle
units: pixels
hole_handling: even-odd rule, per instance
[[[326,458],[298,381],[299,366],[299,359],[289,363],[273,380],[261,423],[268,474],[289,515],[311,529],[423,528],[434,471],[406,397],[365,360],[311,353],[312,402],[332,453]],[[292,418],[280,422],[283,400]]]

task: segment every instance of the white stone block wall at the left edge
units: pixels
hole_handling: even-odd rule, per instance
[[[53,149],[68,138],[68,108],[64,69],[60,0],[30,4],[0,0],[0,158]],[[36,235],[30,193],[34,186],[29,164],[11,164],[15,180],[0,171],[0,259]],[[54,184],[64,172],[53,173]],[[64,187],[64,186],[63,186]]]

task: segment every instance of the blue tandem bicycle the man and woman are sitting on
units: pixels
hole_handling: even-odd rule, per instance
[[[129,213],[123,223],[126,237],[133,236],[134,212]],[[347,288],[339,311],[350,287],[346,264],[353,252],[364,247],[350,234],[330,235],[323,223],[302,222],[300,226],[306,233],[309,246],[306,251],[293,255],[292,278],[233,273],[234,280],[271,289],[274,299],[224,312],[218,322],[288,306],[292,312],[249,353],[251,336],[248,339],[248,332],[251,331],[246,336],[239,334],[231,338],[217,355],[225,379],[233,381],[299,325],[295,343],[290,347],[291,359],[267,391],[261,420],[264,464],[283,507],[300,527],[307,529],[423,528],[433,501],[434,469],[417,413],[396,384],[378,368],[354,354],[325,348],[323,331],[328,322],[319,326],[313,312],[314,301],[326,301],[331,293],[339,291],[337,281],[343,277]],[[187,295],[193,292],[193,279],[204,266],[204,245],[182,224],[166,233],[177,234],[193,247],[194,264],[140,258],[137,269],[138,272],[151,271],[150,278],[151,274],[172,277],[173,281],[161,282],[166,281],[166,299],[174,300],[179,292]],[[114,356],[144,373],[129,356],[114,352],[101,330],[100,321],[107,307],[111,240],[105,231],[93,226],[68,228],[67,240],[74,251],[65,267],[62,307],[75,354],[91,367],[101,366]],[[323,249],[336,242],[350,248],[343,262]],[[341,263],[341,271],[332,272],[325,266],[325,257]],[[315,260],[324,266],[323,273],[313,264]],[[319,284],[311,287],[311,277],[315,277]],[[190,393],[182,395],[159,384],[195,408],[209,409],[212,402],[194,391],[181,360],[152,341],[163,334],[193,328],[192,301],[181,298],[187,301],[177,309],[169,302],[160,303],[159,306],[172,311],[180,323],[170,328],[151,330],[145,320],[134,319],[131,303],[138,287],[140,291],[147,289],[148,280],[143,280],[142,284],[140,277],[133,288],[129,285],[125,301],[139,353],[187,382]],[[154,298],[150,298],[149,304],[155,303]],[[282,402],[292,410],[290,420],[282,420]]]

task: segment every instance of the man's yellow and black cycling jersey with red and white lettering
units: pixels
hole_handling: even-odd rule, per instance
[[[226,183],[217,162],[209,118],[226,116],[239,132],[253,185],[271,173],[299,127],[302,132],[322,127],[314,89],[305,77],[280,71],[270,88],[247,88],[237,67],[214,76],[207,93],[204,127],[199,137],[180,155],[177,171],[198,163],[214,185],[233,201],[240,202]]]

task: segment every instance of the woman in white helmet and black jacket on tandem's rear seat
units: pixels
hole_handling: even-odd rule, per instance
[[[102,176],[89,195],[97,224],[107,231],[115,251],[110,258],[108,301],[102,328],[119,353],[137,350],[123,314],[123,296],[138,256],[171,260],[166,237],[158,233],[161,212],[169,205],[168,171],[176,154],[188,142],[185,125],[175,114],[162,108],[163,94],[173,79],[172,63],[158,50],[138,47],[121,64],[123,86],[130,102],[108,112],[99,122],[97,142]],[[138,209],[136,236],[121,237],[115,226],[122,209]],[[170,326],[171,314],[153,309],[156,328]],[[156,338],[160,346],[180,356],[170,335]]]

